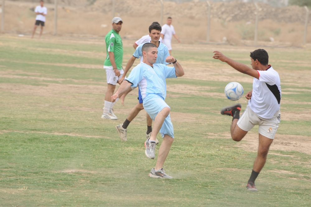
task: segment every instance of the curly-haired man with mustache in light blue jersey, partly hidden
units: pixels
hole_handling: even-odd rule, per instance
[[[151,41],[149,41],[149,43],[150,42],[153,43],[158,48],[158,57],[157,57],[156,63],[167,65],[168,63],[165,62],[165,60],[166,60],[166,57],[169,56],[170,54],[168,53],[167,46],[160,43],[160,41],[159,41],[160,32],[161,32],[161,26],[159,24],[150,25],[149,26],[149,37],[151,38]],[[128,63],[125,66],[124,73],[123,73],[122,77],[120,78],[119,82],[122,82],[124,80],[126,73],[130,70],[130,68],[132,67],[132,65],[134,64],[134,61],[136,59],[141,57],[140,60],[142,62],[142,56],[143,56],[142,47],[145,43],[140,44],[135,49],[133,56],[129,59]],[[139,103],[136,104],[134,106],[134,108],[130,111],[130,114],[127,116],[124,123],[115,126],[115,128],[117,129],[119,136],[120,136],[122,141],[127,140],[127,136],[126,136],[127,127],[130,124],[130,122],[138,115],[139,111],[144,109],[143,99],[142,99],[141,92],[140,92],[139,88],[138,88],[138,100],[139,100]],[[150,138],[151,132],[152,132],[152,119],[150,118],[150,116],[147,113],[147,132],[146,132],[146,138],[147,139]],[[159,141],[156,139],[156,144],[158,144],[158,143],[159,143]]]

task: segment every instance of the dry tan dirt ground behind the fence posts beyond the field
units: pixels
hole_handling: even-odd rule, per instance
[[[45,1],[53,2],[53,1]],[[111,1],[59,1],[56,33],[59,37],[104,36],[111,30]],[[115,16],[121,16],[124,24],[120,35],[123,39],[137,40],[148,34],[148,26],[160,21],[160,1],[145,0],[116,1]],[[1,4],[2,2],[0,2]],[[4,31],[30,36],[34,23],[33,12],[36,1],[5,1]],[[45,3],[48,8],[44,35],[54,34],[54,4]],[[137,12],[137,7],[140,8]],[[273,8],[259,4],[258,45],[303,46],[305,11],[303,7],[291,6]],[[183,12],[180,12],[183,11]],[[207,39],[206,2],[164,2],[163,24],[167,16],[172,16],[172,25],[182,43],[206,42]],[[246,40],[254,40],[255,6],[253,4],[232,2],[212,3],[210,21],[210,42],[231,45],[247,45]],[[1,15],[0,15],[1,19]],[[311,19],[311,15],[309,15]],[[311,43],[311,20],[307,27],[307,43]],[[38,35],[39,29],[36,31]],[[176,40],[173,40],[177,42]],[[250,42],[253,44],[253,41]]]

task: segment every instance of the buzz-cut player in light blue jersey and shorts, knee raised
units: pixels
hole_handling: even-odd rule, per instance
[[[155,64],[158,57],[158,48],[152,43],[145,43],[142,47],[143,62],[138,64],[131,71],[128,78],[120,85],[111,101],[115,101],[120,93],[130,86],[139,84],[143,98],[144,109],[154,120],[153,133],[145,141],[145,154],[148,158],[155,158],[155,140],[158,132],[163,137],[163,142],[159,148],[159,155],[156,166],[151,169],[149,176],[153,178],[172,178],[163,170],[163,164],[170,151],[174,140],[174,129],[170,118],[170,107],[165,103],[166,78],[177,78],[183,76],[184,70],[173,56],[166,58],[167,63],[172,63],[174,67],[164,64]]]

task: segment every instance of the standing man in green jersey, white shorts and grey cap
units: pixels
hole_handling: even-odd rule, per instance
[[[101,115],[101,118],[103,119],[117,120],[117,117],[113,112],[115,102],[111,102],[111,96],[115,92],[115,85],[123,74],[123,45],[122,39],[119,35],[122,24],[123,21],[120,17],[114,17],[112,19],[112,30],[105,37],[107,57],[104,63],[104,68],[106,69],[108,86],[105,95],[103,114]]]

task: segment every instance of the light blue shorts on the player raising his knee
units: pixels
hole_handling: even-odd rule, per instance
[[[149,94],[144,98],[143,102],[144,109],[147,111],[151,119],[154,121],[155,117],[158,115],[158,113],[165,107],[170,108],[167,103],[163,100],[162,97],[156,95],[156,94]],[[165,134],[169,135],[170,137],[174,138],[174,129],[173,124],[171,121],[170,115],[168,115],[163,125],[160,129],[160,133],[162,137],[164,137]]]

